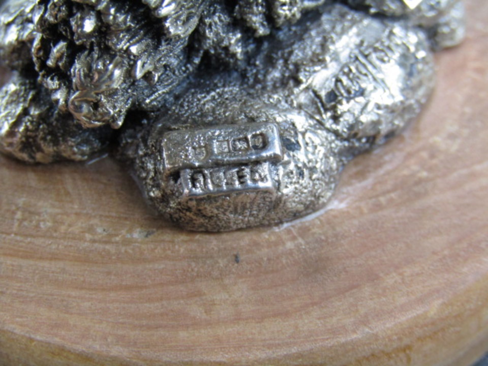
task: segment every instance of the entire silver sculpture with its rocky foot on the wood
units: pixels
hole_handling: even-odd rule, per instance
[[[117,137],[148,202],[193,230],[309,214],[416,118],[432,50],[464,36],[459,0],[340,2],[4,1],[0,149],[83,160]]]

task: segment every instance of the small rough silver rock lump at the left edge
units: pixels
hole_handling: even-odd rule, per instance
[[[35,81],[13,74],[0,90],[0,151],[29,163],[86,160],[108,144],[108,127],[87,130],[73,123]]]

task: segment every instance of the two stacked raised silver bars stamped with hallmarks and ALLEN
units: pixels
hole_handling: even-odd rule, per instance
[[[162,146],[163,176],[180,171],[184,197],[272,192],[269,163],[283,159],[274,123],[169,131]]]

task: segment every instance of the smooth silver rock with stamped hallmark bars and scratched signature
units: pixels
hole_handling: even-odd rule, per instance
[[[159,121],[128,130],[122,145],[148,200],[170,220],[212,231],[273,224],[322,207],[344,163],[401,131],[432,86],[431,52],[420,29],[329,5],[283,29],[240,74],[195,77]],[[267,162],[262,176],[272,188],[248,183],[248,145],[241,160],[200,153],[199,168],[188,159],[214,136],[242,140],[242,126],[252,134],[256,123],[279,129],[282,159],[250,150],[253,162]],[[206,138],[195,137],[203,131]],[[217,166],[220,185],[212,181]],[[188,194],[192,187],[197,193]]]

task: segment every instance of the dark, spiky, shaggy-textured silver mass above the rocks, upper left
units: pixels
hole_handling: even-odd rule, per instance
[[[262,12],[258,37],[269,33],[266,17],[281,26],[323,1],[269,0],[262,8],[252,2],[231,8],[208,0],[7,0],[0,55],[17,68],[35,66],[52,101],[83,126],[119,128],[129,109],[157,110],[205,53],[242,63],[254,46],[245,26],[250,13]]]

